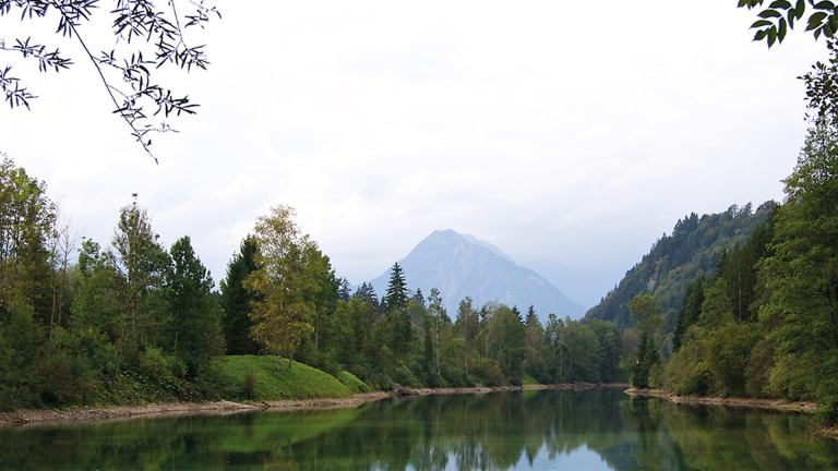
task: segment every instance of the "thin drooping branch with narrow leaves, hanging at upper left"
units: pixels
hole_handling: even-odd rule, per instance
[[[99,53],[93,52],[86,36],[80,34],[80,27],[91,22],[99,0],[0,0],[0,16],[14,11],[21,13],[22,22],[52,20],[57,22],[57,34],[77,40],[96,67],[116,106],[113,112],[128,123],[131,135],[152,155],[149,134],[173,130],[165,121],[152,124],[149,113],[152,117],[163,113],[165,118],[172,113],[193,114],[199,106],[191,102],[189,96],[178,96],[155,83],[152,72],[167,64],[187,72],[192,68],[205,70],[210,62],[204,45],[187,44],[183,31],[191,26],[203,28],[211,16],[220,19],[220,13],[215,7],[205,5],[204,0],[185,0],[190,4],[189,14],[178,12],[176,0],[167,1],[166,9],[156,9],[149,0],[111,1],[116,3],[109,13],[117,48]],[[32,37],[15,38],[11,43],[0,38],[0,50],[38,61],[40,72],[59,72],[73,65],[72,59],[63,56],[59,48],[36,44]],[[11,108],[24,106],[28,109],[29,101],[37,96],[19,77],[12,76],[11,70],[11,65],[0,68],[0,89]]]

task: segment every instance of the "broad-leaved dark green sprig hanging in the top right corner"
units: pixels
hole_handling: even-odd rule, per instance
[[[746,7],[752,10],[762,7],[764,0],[739,0],[739,8]],[[782,43],[789,29],[794,28],[794,23],[803,19],[806,13],[806,3],[809,3],[810,15],[806,21],[806,31],[813,31],[815,39],[824,35],[835,37],[838,32],[838,4],[831,1],[815,0],[776,0],[768,8],[761,11],[757,16],[759,20],[751,25],[751,28],[757,29],[754,40],[765,39],[768,47],[774,46],[776,41]]]

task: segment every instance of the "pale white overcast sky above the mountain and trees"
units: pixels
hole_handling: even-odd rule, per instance
[[[0,53],[38,96],[0,111],[0,152],[101,245],[137,193],[216,282],[287,204],[352,283],[454,229],[590,307],[679,218],[783,197],[806,130],[797,77],[826,44],[801,28],[769,50],[735,3],[218,0],[223,20],[187,36],[208,69],[156,72],[201,105],[153,137],[159,165],[79,44],[13,12],[0,38],[75,64]],[[82,34],[112,47],[104,21]]]

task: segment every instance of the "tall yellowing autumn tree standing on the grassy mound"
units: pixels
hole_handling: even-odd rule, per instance
[[[300,342],[313,331],[310,319],[320,291],[316,274],[325,264],[316,243],[300,231],[292,207],[276,205],[256,219],[258,268],[243,283],[259,299],[250,314],[255,322],[250,335],[265,352],[276,352],[277,370],[283,354],[292,362]]]

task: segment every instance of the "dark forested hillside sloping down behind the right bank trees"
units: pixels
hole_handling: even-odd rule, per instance
[[[693,213],[679,220],[672,234],[660,238],[585,318],[628,328],[628,301],[637,294],[653,294],[662,310],[665,331],[672,331],[687,286],[702,276],[711,276],[725,251],[744,245],[775,206],[769,201],[753,212],[750,203],[742,208],[733,205],[725,213],[701,218]]]

